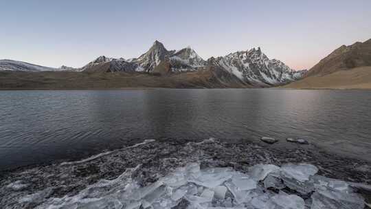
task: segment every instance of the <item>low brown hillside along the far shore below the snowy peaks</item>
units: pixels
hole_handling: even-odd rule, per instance
[[[0,89],[120,89],[120,88],[249,88],[237,78],[207,68],[166,76],[138,72],[106,73],[102,65],[91,72],[0,72]]]

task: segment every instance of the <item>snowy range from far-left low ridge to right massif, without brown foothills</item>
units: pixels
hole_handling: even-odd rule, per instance
[[[87,65],[74,69],[71,67],[42,67],[20,61],[0,60],[1,70],[45,72],[142,72],[166,76],[189,72],[212,71],[213,76],[225,82],[241,83],[246,86],[271,87],[291,83],[300,79],[306,70],[295,71],[276,59],[269,59],[258,49],[234,52],[226,56],[212,57],[206,61],[191,47],[181,50],[167,50],[159,41],[138,58],[109,58],[99,56]],[[226,80],[225,80],[226,79]]]

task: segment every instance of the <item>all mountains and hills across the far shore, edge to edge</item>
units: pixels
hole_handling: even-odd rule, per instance
[[[371,89],[371,39],[341,45],[311,69],[294,71],[260,49],[204,60],[191,47],[159,41],[138,58],[99,56],[80,68],[0,60],[0,89],[126,87]]]

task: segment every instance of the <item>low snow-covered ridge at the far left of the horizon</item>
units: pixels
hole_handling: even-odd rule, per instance
[[[43,72],[43,71],[58,71],[60,68],[44,67],[25,63],[21,61],[0,60],[0,70],[25,71],[25,72]]]

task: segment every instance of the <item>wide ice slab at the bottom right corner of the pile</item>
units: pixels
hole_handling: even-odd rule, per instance
[[[312,195],[311,209],[363,209],[364,199],[356,193],[340,192],[339,190],[319,189]]]

